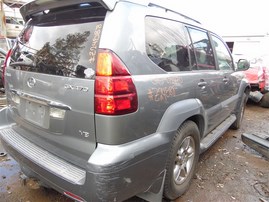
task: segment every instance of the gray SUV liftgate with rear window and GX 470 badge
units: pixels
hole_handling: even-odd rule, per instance
[[[88,159],[96,147],[94,77],[106,8],[92,2],[31,12],[6,69],[14,129],[62,158]]]

